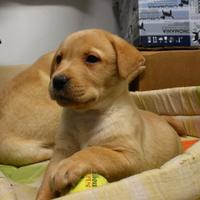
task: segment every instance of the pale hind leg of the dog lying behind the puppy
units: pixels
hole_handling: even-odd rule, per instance
[[[53,154],[53,145],[44,145],[37,140],[5,138],[0,141],[0,163],[23,166],[49,160]]]

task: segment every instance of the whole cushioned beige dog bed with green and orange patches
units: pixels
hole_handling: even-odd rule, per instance
[[[183,138],[187,150],[160,169],[58,200],[200,199],[200,87],[132,92],[131,95],[139,108],[181,120],[190,136]],[[0,165],[0,199],[35,199],[47,164],[45,161],[20,168]]]

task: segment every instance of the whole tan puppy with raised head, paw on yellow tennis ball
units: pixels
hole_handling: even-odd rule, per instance
[[[99,29],[76,32],[60,45],[49,92],[63,107],[62,121],[38,200],[59,196],[87,173],[116,181],[182,152],[169,123],[139,110],[130,96],[129,80],[144,61],[126,41]]]

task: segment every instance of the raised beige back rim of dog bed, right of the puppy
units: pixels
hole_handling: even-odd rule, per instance
[[[200,137],[200,86],[134,92],[137,106],[182,121],[188,135]]]

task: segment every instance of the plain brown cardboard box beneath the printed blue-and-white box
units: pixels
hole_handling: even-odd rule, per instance
[[[200,85],[200,50],[144,51],[146,70],[130,90]]]

